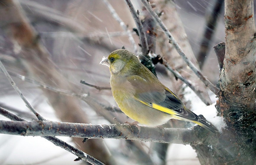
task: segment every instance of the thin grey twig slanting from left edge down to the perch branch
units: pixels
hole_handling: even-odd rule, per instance
[[[7,70],[5,69],[3,63],[0,60],[0,68],[2,69],[2,71],[4,72],[4,75],[7,77],[8,81],[11,83],[12,87],[14,88],[14,90],[20,95],[20,98],[24,101],[24,103],[26,104],[26,106],[28,107],[28,109],[30,109],[30,111],[33,112],[33,114],[36,115],[36,117],[39,120],[45,120],[44,117],[42,117],[40,114],[37,113],[37,111],[33,108],[33,106],[28,102],[28,100],[25,98],[25,96],[23,96],[23,94],[21,93],[20,89],[17,87],[17,85],[15,84],[15,82],[12,80],[12,77],[9,75],[9,73],[7,72]]]

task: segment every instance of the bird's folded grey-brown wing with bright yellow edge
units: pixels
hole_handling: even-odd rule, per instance
[[[127,80],[135,90],[134,98],[139,102],[171,115],[198,120],[197,115],[188,110],[184,103],[158,80],[157,83],[150,82],[138,75],[129,76]]]

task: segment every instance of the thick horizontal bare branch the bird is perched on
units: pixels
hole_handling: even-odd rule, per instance
[[[207,131],[207,130],[206,130]],[[13,122],[0,120],[0,133],[22,136],[112,138],[160,143],[190,144],[198,140],[193,129],[136,126],[134,124],[82,124],[53,121]]]

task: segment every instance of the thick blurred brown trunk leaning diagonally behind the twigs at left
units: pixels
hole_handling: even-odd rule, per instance
[[[70,83],[67,78],[56,68],[51,56],[44,45],[40,42],[38,34],[29,24],[18,1],[1,1],[0,27],[3,32],[14,41],[19,48],[19,59],[26,67],[30,76],[53,87],[79,92],[77,85]],[[42,89],[44,94],[56,111],[57,116],[66,122],[87,122],[88,117],[84,114],[76,98],[59,95],[59,93]],[[70,111],[72,109],[72,111]],[[80,144],[83,151],[93,155],[106,164],[112,164],[115,160],[111,157],[105,145],[101,145],[101,139],[88,140],[86,145],[78,138],[73,138],[76,144]]]

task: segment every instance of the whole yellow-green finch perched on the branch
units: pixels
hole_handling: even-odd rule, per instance
[[[146,126],[158,126],[174,118],[218,132],[187,109],[130,51],[117,49],[100,64],[109,67],[112,95],[119,108],[131,119]]]

